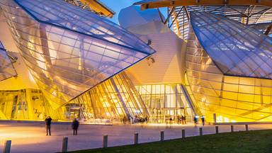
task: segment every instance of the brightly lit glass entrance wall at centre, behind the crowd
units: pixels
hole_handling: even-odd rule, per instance
[[[192,121],[194,113],[182,84],[145,84],[136,86],[145,101],[150,114],[150,122],[164,123],[170,117],[177,119],[186,115]]]

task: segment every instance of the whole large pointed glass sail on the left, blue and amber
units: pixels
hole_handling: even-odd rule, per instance
[[[31,74],[56,108],[155,51],[115,23],[58,0],[1,0]]]

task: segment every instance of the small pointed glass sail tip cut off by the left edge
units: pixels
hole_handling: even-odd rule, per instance
[[[0,81],[16,76],[17,73],[13,67],[11,60],[0,42]]]

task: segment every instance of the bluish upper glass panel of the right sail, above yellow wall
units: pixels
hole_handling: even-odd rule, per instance
[[[192,11],[191,25],[224,74],[272,79],[272,38],[224,16]]]

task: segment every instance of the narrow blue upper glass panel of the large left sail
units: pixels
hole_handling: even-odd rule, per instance
[[[15,0],[18,5],[28,11],[40,22],[60,26],[92,37],[131,47],[146,54],[153,53],[151,47],[132,33],[117,24],[60,0]]]

